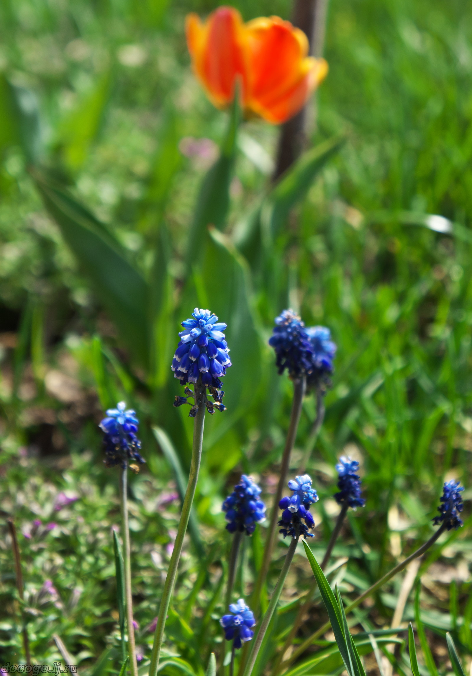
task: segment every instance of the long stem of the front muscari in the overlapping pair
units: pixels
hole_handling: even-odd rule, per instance
[[[272,556],[273,546],[276,543],[277,522],[279,518],[279,502],[282,498],[282,492],[287,483],[288,470],[290,469],[290,454],[295,444],[296,431],[298,429],[298,422],[302,412],[303,397],[307,389],[307,379],[305,377],[294,381],[294,392],[292,402],[292,412],[290,414],[290,425],[288,427],[287,438],[285,441],[284,454],[282,455],[282,464],[280,466],[280,479],[277,486],[276,495],[273,497],[272,513],[270,518],[269,528],[267,529],[267,539],[265,541],[264,555],[262,559],[261,569],[257,576],[257,581],[254,587],[253,596],[251,599],[251,608],[254,614],[257,614],[261,604],[261,589],[269,571],[269,564]],[[152,676],[152,675],[151,675]]]

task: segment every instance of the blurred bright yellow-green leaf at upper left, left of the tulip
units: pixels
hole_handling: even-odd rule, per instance
[[[88,149],[99,134],[110,85],[111,74],[106,72],[59,124],[56,143],[61,147],[65,164],[74,172],[84,164]]]

